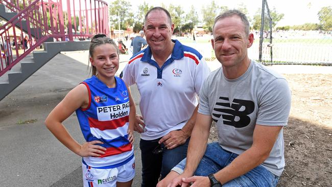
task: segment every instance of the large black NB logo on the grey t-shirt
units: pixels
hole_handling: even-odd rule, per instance
[[[224,125],[242,128],[250,124],[248,115],[254,109],[255,103],[253,101],[233,99],[232,102],[229,102],[228,98],[220,97],[212,112],[212,119],[218,123],[220,116],[222,116]]]

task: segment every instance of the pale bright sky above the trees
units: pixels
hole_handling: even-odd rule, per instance
[[[108,0],[106,2],[114,2],[114,0]],[[132,5],[133,10],[144,1],[129,0]],[[201,12],[201,7],[206,6],[207,2],[211,0],[145,0],[149,5],[161,6],[169,5],[181,5],[185,12],[188,12],[190,7],[194,5],[198,13]],[[194,3],[195,2],[195,3]],[[227,6],[228,8],[236,8],[239,4],[243,3],[247,6],[249,16],[253,17],[258,8],[262,7],[262,0],[215,0],[218,5]],[[301,25],[307,22],[318,23],[317,13],[322,7],[332,6],[331,0],[267,0],[270,10],[274,7],[277,13],[283,13],[284,17],[281,19],[277,27],[279,26],[292,26]]]

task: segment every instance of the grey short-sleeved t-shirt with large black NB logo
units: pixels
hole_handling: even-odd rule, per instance
[[[249,149],[255,124],[286,126],[291,108],[291,91],[286,79],[262,64],[251,61],[239,78],[227,79],[222,67],[208,76],[200,90],[198,112],[211,115],[217,124],[220,146],[235,154]],[[280,176],[284,168],[282,130],[262,163]]]

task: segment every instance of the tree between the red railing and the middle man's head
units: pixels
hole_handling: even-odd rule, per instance
[[[134,23],[134,13],[131,9],[130,2],[126,0],[115,0],[109,5],[109,19],[110,25],[114,29],[118,28],[118,15],[120,15],[120,29],[126,30]]]

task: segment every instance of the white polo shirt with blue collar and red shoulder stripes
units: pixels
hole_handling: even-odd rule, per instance
[[[210,73],[202,55],[193,48],[175,42],[172,55],[161,68],[151,49],[133,56],[123,69],[123,80],[137,84],[139,108],[146,125],[141,138],[152,140],[181,129],[197,106],[201,85]]]

